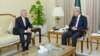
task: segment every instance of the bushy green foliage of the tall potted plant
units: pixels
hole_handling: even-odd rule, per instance
[[[45,15],[43,12],[43,6],[39,0],[36,1],[36,4],[33,4],[30,8],[30,14],[32,16],[33,25],[44,25],[46,23]]]

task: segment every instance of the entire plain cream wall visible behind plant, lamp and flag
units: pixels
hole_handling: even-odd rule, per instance
[[[55,18],[52,16],[52,11],[56,6],[56,0],[41,0],[41,2],[44,6],[48,29],[51,29],[55,26]],[[0,0],[0,14],[11,13],[19,16],[21,9],[27,9],[29,11],[31,5],[34,3],[35,0]],[[83,15],[86,15],[86,0],[81,0],[81,4]]]

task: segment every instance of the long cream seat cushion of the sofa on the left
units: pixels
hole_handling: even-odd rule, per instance
[[[0,36],[0,47],[14,44],[15,42],[19,42],[19,36],[18,35],[12,35],[12,34],[5,34]]]

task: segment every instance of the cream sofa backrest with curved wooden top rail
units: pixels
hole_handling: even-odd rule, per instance
[[[12,14],[0,14],[0,27],[2,27],[2,31],[4,34],[8,33],[8,27],[13,22],[15,23],[15,15]]]

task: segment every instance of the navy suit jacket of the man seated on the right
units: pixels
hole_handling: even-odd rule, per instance
[[[72,20],[69,24],[69,30],[71,30],[72,27],[75,26],[76,20],[77,20],[77,17],[73,16]],[[77,31],[78,32],[83,32],[84,29],[87,29],[87,25],[88,25],[87,18],[85,16],[81,15],[80,19],[79,19],[79,22],[78,22],[78,27],[77,27],[78,30]]]

